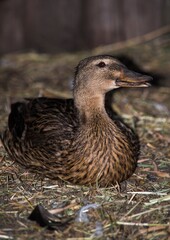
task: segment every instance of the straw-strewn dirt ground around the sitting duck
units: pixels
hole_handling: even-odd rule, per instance
[[[70,97],[78,61],[105,52],[108,53],[101,48],[69,55],[30,52],[3,56],[0,60],[0,131],[6,125],[11,102],[23,97]],[[168,239],[169,37],[109,53],[155,77],[153,87],[148,89],[119,89],[113,93],[113,109],[140,138],[141,155],[136,172],[121,190],[61,186],[16,165],[0,143],[0,239]],[[37,204],[55,213],[55,230],[42,228],[28,219]],[[83,206],[89,209],[82,216]]]

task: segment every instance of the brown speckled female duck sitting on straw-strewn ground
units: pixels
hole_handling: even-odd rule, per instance
[[[76,69],[74,101],[43,97],[12,104],[4,147],[11,159],[44,177],[80,185],[120,183],[136,168],[139,142],[105,108],[105,94],[148,87],[150,80],[111,56],[86,58]]]

